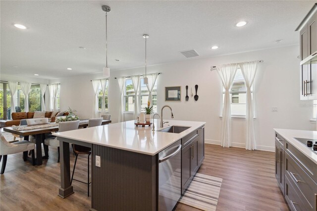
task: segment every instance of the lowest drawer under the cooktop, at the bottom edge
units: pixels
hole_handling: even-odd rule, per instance
[[[302,201],[289,182],[287,176],[285,177],[285,199],[291,211],[306,211]]]

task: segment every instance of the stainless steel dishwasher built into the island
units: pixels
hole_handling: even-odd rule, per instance
[[[171,211],[181,196],[181,141],[159,153],[159,211]]]

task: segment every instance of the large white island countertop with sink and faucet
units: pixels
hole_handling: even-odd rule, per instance
[[[154,156],[160,151],[183,138],[206,122],[167,120],[163,128],[175,126],[190,127],[181,133],[167,133],[152,131],[151,126],[136,126],[135,120],[102,125],[97,127],[83,128],[65,132],[54,133],[53,135],[67,139],[87,142],[91,144],[112,147],[116,149],[142,153]],[[159,128],[159,119],[154,119],[156,130]]]

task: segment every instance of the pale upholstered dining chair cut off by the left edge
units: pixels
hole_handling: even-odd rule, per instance
[[[35,144],[29,141],[13,141],[8,142],[0,131],[0,161],[3,156],[2,160],[2,167],[0,174],[4,173],[7,155],[21,153],[23,152],[23,159],[24,161],[28,158],[28,151],[31,150],[32,152],[32,164],[35,165],[35,154],[34,154]]]

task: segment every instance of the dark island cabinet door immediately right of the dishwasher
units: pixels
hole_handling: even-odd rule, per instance
[[[192,154],[192,144],[188,144],[185,148],[182,149],[182,194],[184,193],[188,184],[190,183],[191,154]]]

